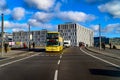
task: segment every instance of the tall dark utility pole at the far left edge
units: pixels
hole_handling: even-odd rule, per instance
[[[1,56],[3,56],[3,50],[4,50],[4,14],[2,13],[1,14],[1,19],[2,19],[2,22],[1,22]]]

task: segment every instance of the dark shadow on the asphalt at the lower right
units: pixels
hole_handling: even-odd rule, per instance
[[[94,74],[94,75],[120,77],[120,71],[119,70],[89,69],[89,71],[90,71],[91,74]]]

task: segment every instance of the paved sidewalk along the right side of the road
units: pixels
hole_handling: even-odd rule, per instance
[[[88,49],[90,51],[93,51],[95,53],[100,53],[100,54],[103,54],[103,55],[107,55],[107,56],[110,56],[110,57],[120,59],[120,50],[118,50],[118,49],[106,48],[105,50],[104,49],[100,50],[99,48],[96,48],[96,47],[87,47],[86,49]]]

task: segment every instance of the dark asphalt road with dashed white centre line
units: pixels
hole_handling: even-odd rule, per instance
[[[0,80],[120,80],[118,59],[84,51],[73,47],[60,53],[37,52],[0,64]]]

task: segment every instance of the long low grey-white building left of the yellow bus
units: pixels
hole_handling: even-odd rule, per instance
[[[27,44],[35,43],[36,46],[45,46],[47,30],[41,31],[19,31],[13,32],[13,41],[14,42],[24,42]],[[30,35],[30,36],[29,36]]]

